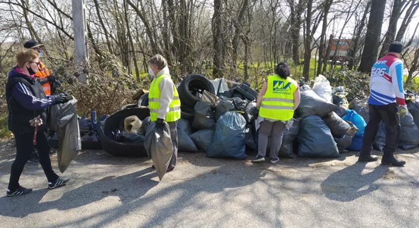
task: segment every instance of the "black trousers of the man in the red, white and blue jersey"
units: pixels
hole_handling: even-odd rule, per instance
[[[385,145],[383,148],[384,157],[393,156],[400,141],[400,117],[399,107],[396,103],[388,105],[369,105],[370,121],[367,124],[362,139],[360,157],[371,156],[372,145],[377,136],[381,122],[385,124]]]

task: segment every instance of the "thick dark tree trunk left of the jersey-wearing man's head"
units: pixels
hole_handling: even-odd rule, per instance
[[[365,36],[365,45],[358,71],[371,72],[371,67],[377,60],[385,1],[386,0],[372,0],[367,34]]]

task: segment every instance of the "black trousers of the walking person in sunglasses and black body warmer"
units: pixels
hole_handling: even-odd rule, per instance
[[[9,189],[16,189],[19,187],[20,175],[22,174],[23,167],[29,159],[30,154],[34,150],[34,147],[38,150],[39,161],[47,176],[48,182],[54,182],[58,176],[51,167],[49,145],[45,132],[38,132],[36,146],[33,144],[34,134],[15,133],[14,135],[16,141],[16,159],[13,162],[10,171]]]

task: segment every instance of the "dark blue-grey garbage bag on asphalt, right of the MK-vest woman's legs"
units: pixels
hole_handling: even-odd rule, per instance
[[[297,140],[299,157],[339,157],[339,150],[330,129],[318,116],[309,116],[301,121]]]

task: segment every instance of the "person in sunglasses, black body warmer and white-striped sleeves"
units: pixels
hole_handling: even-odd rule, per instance
[[[49,158],[49,145],[45,134],[45,109],[52,104],[65,103],[71,99],[67,93],[46,96],[44,90],[34,78],[40,64],[38,52],[22,49],[16,54],[17,66],[9,72],[6,84],[6,99],[9,110],[8,127],[13,132],[16,142],[16,159],[10,171],[7,196],[20,196],[32,192],[32,189],[19,185],[19,178],[34,146],[48,179],[48,188],[65,184],[54,173]]]

